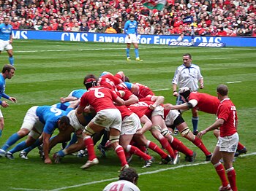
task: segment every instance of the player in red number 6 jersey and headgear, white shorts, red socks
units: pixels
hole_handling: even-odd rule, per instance
[[[90,105],[94,108],[97,114],[83,131],[84,144],[88,149],[89,160],[85,165],[82,165],[81,168],[89,168],[90,166],[99,163],[94,152],[94,142],[92,141],[91,136],[95,132],[99,132],[103,129],[110,132],[110,144],[116,151],[119,160],[121,160],[121,170],[129,168],[124,155],[124,149],[118,143],[121,131],[121,113],[113,104],[113,101],[115,101],[116,104],[124,105],[124,100],[118,97],[116,93],[113,93],[112,90],[96,86],[97,81],[96,79],[91,78],[91,75],[87,76],[84,82],[88,91],[84,93],[80,99],[77,113],[83,113],[86,106]]]

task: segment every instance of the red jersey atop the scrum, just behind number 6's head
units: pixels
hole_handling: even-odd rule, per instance
[[[105,74],[102,77],[99,77],[99,85],[115,91],[117,91],[116,85],[120,84],[121,82],[121,76],[119,74],[116,74],[115,76],[112,74]]]

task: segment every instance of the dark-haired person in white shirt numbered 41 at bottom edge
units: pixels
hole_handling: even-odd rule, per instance
[[[111,191],[111,190],[140,191],[140,189],[136,186],[138,182],[138,178],[139,176],[133,168],[124,169],[124,171],[121,171],[121,174],[119,175],[119,180],[108,184],[103,189],[103,191]]]

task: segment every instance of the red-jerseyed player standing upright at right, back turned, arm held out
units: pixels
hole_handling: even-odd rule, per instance
[[[202,136],[208,131],[219,128],[220,136],[211,157],[211,163],[214,165],[214,168],[222,181],[222,186],[219,187],[219,190],[237,191],[236,171],[235,168],[233,168],[233,157],[239,140],[237,133],[238,117],[236,106],[230,101],[227,93],[228,87],[226,85],[219,85],[217,87],[217,95],[220,101],[217,109],[217,120],[205,130],[201,130],[197,136],[202,139]],[[223,158],[224,166],[220,163],[221,158]],[[227,181],[225,171],[230,184]]]

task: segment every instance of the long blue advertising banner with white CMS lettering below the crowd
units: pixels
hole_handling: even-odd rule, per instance
[[[96,34],[64,31],[13,31],[14,39],[37,39],[79,42],[124,43],[125,34]],[[178,35],[140,35],[140,44],[170,44],[177,42]],[[191,36],[184,36],[182,42],[191,42]],[[194,42],[224,43],[226,47],[256,47],[256,37],[241,36],[194,36]]]

